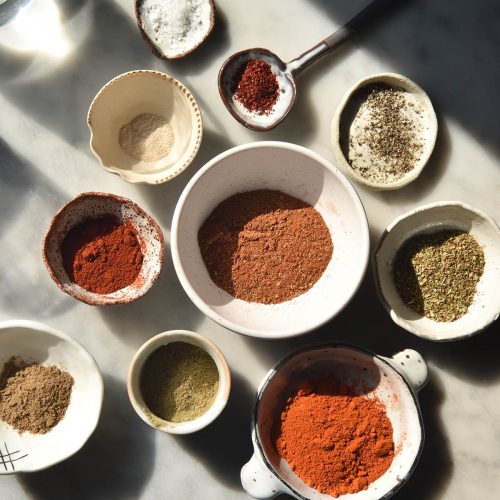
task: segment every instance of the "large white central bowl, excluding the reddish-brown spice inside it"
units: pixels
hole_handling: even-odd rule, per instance
[[[198,230],[221,201],[263,188],[310,203],[333,240],[323,276],[309,291],[281,304],[245,302],[218,288],[198,247]],[[318,154],[284,142],[245,144],[209,161],[184,189],[171,236],[175,270],[194,304],[222,326],[254,337],[301,335],[329,321],[356,293],[369,253],[366,215],[350,182]]]

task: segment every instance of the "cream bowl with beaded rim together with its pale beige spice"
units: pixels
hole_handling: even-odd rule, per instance
[[[159,71],[123,73],[88,112],[90,149],[127,182],[160,184],[185,170],[201,144],[201,112],[191,92]]]

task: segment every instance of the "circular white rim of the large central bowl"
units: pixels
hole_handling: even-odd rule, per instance
[[[222,316],[216,314],[210,307],[206,305],[206,303],[201,299],[201,297],[196,293],[194,288],[191,286],[191,283],[189,282],[186,273],[184,272],[184,268],[181,262],[181,258],[179,256],[179,246],[178,246],[178,233],[179,233],[179,219],[181,216],[181,213],[184,209],[184,204],[186,203],[186,200],[188,196],[191,194],[191,191],[195,187],[195,185],[200,181],[201,177],[203,177],[212,167],[215,167],[218,165],[222,160],[229,158],[231,156],[238,155],[242,151],[247,151],[251,149],[258,149],[258,148],[279,148],[279,149],[284,149],[288,151],[293,151],[295,153],[298,153],[300,155],[306,156],[307,158],[314,160],[316,163],[321,165],[321,167],[329,172],[331,172],[333,175],[337,177],[337,179],[340,181],[340,183],[343,185],[344,189],[347,191],[350,199],[352,200],[356,213],[358,217],[364,221],[362,224],[362,227],[360,228],[362,232],[362,240],[364,241],[364,251],[363,251],[363,262],[361,266],[361,272],[359,275],[359,281],[356,284],[356,287],[353,289],[352,294],[349,297],[346,297],[343,303],[340,304],[340,307],[333,312],[332,315],[329,315],[325,317],[325,319],[322,319],[320,321],[313,321],[309,326],[306,328],[289,328],[288,330],[281,330],[279,335],[273,332],[272,334],[268,334],[266,332],[262,332],[259,330],[256,330],[254,328],[250,327],[244,327],[240,326],[232,321],[227,320],[226,318],[223,318]],[[366,275],[366,270],[368,268],[368,263],[369,263],[369,258],[370,258],[370,237],[369,237],[369,229],[368,229],[368,219],[366,216],[366,212],[363,206],[363,203],[361,201],[361,198],[359,197],[359,194],[357,193],[356,189],[354,186],[351,184],[351,182],[347,179],[347,177],[337,168],[335,165],[333,165],[330,161],[328,161],[326,158],[322,157],[318,153],[304,147],[304,146],[299,146],[297,144],[289,143],[289,142],[281,142],[281,141],[257,141],[257,142],[250,142],[246,144],[242,144],[239,146],[235,146],[233,148],[230,148],[226,151],[223,151],[222,153],[218,154],[214,158],[212,158],[210,161],[208,161],[203,167],[198,170],[198,172],[191,178],[191,180],[188,182],[184,190],[182,191],[181,196],[179,197],[177,201],[177,205],[175,207],[174,215],[172,218],[172,226],[171,226],[171,232],[170,232],[170,249],[172,252],[172,260],[174,264],[174,269],[177,274],[177,277],[179,278],[179,281],[184,288],[184,291],[188,295],[188,297],[191,299],[191,301],[195,304],[195,306],[206,316],[208,316],[210,319],[215,321],[216,323],[222,325],[223,327],[236,332],[240,333],[249,337],[256,337],[256,338],[267,338],[267,339],[284,339],[284,338],[290,338],[290,337],[297,337],[299,335],[304,335],[312,330],[315,330],[317,328],[320,328],[322,325],[326,324],[328,321],[330,321],[333,317],[337,316],[340,314],[340,312],[349,304],[349,302],[353,299],[353,297],[356,295],[356,293],[359,290],[359,287],[361,286],[361,283],[363,281],[364,276]]]

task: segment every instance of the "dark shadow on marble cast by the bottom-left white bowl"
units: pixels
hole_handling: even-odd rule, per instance
[[[35,500],[135,500],[154,469],[154,433],[137,418],[125,385],[104,377],[101,419],[87,444],[50,469],[18,475]]]

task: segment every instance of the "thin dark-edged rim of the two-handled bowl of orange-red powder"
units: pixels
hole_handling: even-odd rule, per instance
[[[278,373],[278,371],[286,365],[290,360],[298,356],[299,354],[302,354],[304,352],[312,351],[312,350],[318,350],[318,349],[335,349],[335,348],[347,348],[347,349],[352,349],[353,351],[358,351],[363,354],[367,354],[370,356],[373,356],[377,358],[378,361],[384,363],[386,366],[388,366],[398,377],[402,382],[406,385],[408,388],[410,395],[412,397],[413,403],[415,405],[415,409],[417,412],[418,416],[418,422],[419,422],[419,428],[420,428],[420,444],[418,447],[417,454],[415,456],[415,459],[413,460],[413,463],[406,473],[405,477],[401,480],[398,481],[398,483],[391,488],[387,493],[385,493],[383,496],[378,497],[377,500],[383,500],[392,497],[400,488],[403,487],[403,485],[410,479],[412,476],[413,472],[415,471],[418,462],[421,458],[422,451],[424,448],[424,443],[425,443],[425,428],[424,428],[424,420],[422,417],[422,411],[420,409],[420,404],[418,402],[417,394],[415,392],[415,389],[411,386],[411,384],[406,380],[406,378],[398,371],[394,366],[392,366],[384,357],[380,354],[376,354],[375,352],[371,351],[370,349],[367,349],[365,347],[360,347],[355,344],[351,344],[349,342],[344,342],[344,341],[329,341],[329,342],[324,342],[324,341],[316,341],[316,342],[311,342],[305,346],[298,347],[297,349],[293,349],[290,351],[288,354],[283,356],[280,360],[278,360],[272,367],[271,369],[264,375],[262,381],[259,384],[259,387],[257,388],[256,394],[255,394],[255,399],[254,399],[254,404],[252,407],[252,416],[251,416],[251,433],[252,433],[252,442],[254,444],[255,450],[258,451],[260,458],[262,459],[262,463],[265,465],[265,467],[273,474],[274,477],[278,479],[278,481],[283,484],[287,490],[290,490],[294,495],[297,496],[300,500],[309,500],[308,497],[305,497],[301,495],[298,491],[293,489],[286,481],[284,481],[280,475],[274,470],[273,466],[269,463],[267,460],[267,457],[264,453],[264,449],[262,447],[262,444],[260,442],[260,439],[258,437],[257,433],[257,423],[258,423],[258,418],[257,414],[259,411],[259,406],[260,402],[262,400],[262,394],[269,385],[269,382],[274,376]],[[342,495],[345,496],[345,495]],[[342,498],[339,497],[339,498]]]

